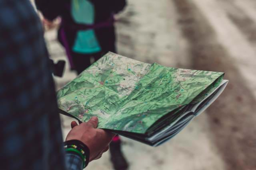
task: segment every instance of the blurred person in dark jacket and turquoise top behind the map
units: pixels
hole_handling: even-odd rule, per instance
[[[114,14],[126,6],[126,0],[35,0],[43,23],[51,27],[61,18],[58,40],[64,46],[70,68],[80,74],[108,51],[116,53]],[[116,170],[128,163],[121,151],[119,136],[110,143],[111,161]]]

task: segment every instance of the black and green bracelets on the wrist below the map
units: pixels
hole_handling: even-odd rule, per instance
[[[90,150],[84,143],[78,140],[65,141],[64,148],[67,152],[78,154],[82,158],[84,168],[88,165],[90,160]]]

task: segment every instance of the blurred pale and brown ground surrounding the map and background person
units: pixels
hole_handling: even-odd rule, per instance
[[[130,170],[256,170],[256,1],[128,0],[116,17],[118,54],[146,63],[225,72],[224,93],[174,139],[153,148],[122,138]],[[57,28],[50,57],[66,60]],[[68,62],[57,89],[76,77]],[[63,136],[72,118],[61,115]],[[109,153],[88,170],[112,170]]]

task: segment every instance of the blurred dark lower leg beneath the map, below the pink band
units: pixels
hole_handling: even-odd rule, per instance
[[[127,170],[128,163],[121,150],[121,141],[112,141],[109,145],[110,160],[115,170]]]

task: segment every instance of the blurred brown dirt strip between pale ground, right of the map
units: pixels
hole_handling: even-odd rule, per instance
[[[232,54],[228,53],[228,49],[216,39],[215,30],[195,6],[196,3],[192,4],[186,0],[174,0],[174,2],[180,17],[187,20],[180,25],[184,37],[190,42],[194,68],[223,71],[226,72],[225,78],[230,80],[221,98],[207,110],[214,134],[213,140],[226,161],[226,168],[254,170],[256,169],[256,115],[254,115],[256,100],[252,89],[244,83],[248,80],[245,80],[244,75],[239,71],[237,61],[230,56]],[[243,17],[245,14],[240,14],[242,18],[246,18]],[[234,19],[233,17],[232,21]],[[240,23],[234,24],[241,28],[245,38],[248,38],[248,33],[254,34],[254,30],[245,31],[246,28],[242,28]],[[250,24],[254,27],[255,23]],[[253,39],[248,41],[253,43]],[[234,43],[239,44],[239,42]]]

